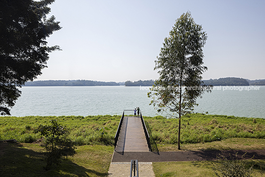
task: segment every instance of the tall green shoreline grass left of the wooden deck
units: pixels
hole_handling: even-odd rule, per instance
[[[39,125],[46,125],[56,119],[60,124],[70,129],[70,139],[76,145],[114,144],[121,116],[27,116],[27,117],[0,117],[0,140],[16,139],[19,142],[34,142],[42,140],[40,134],[33,131]],[[104,133],[100,131],[102,128]]]

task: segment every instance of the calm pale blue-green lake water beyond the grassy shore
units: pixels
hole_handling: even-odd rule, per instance
[[[214,87],[212,93],[204,93],[202,99],[197,99],[199,106],[195,111],[265,118],[265,86],[255,87],[259,89]],[[157,114],[149,105],[147,87],[22,87],[20,90],[22,95],[11,109],[12,116],[122,115],[124,109],[136,107],[140,107],[143,116]]]

